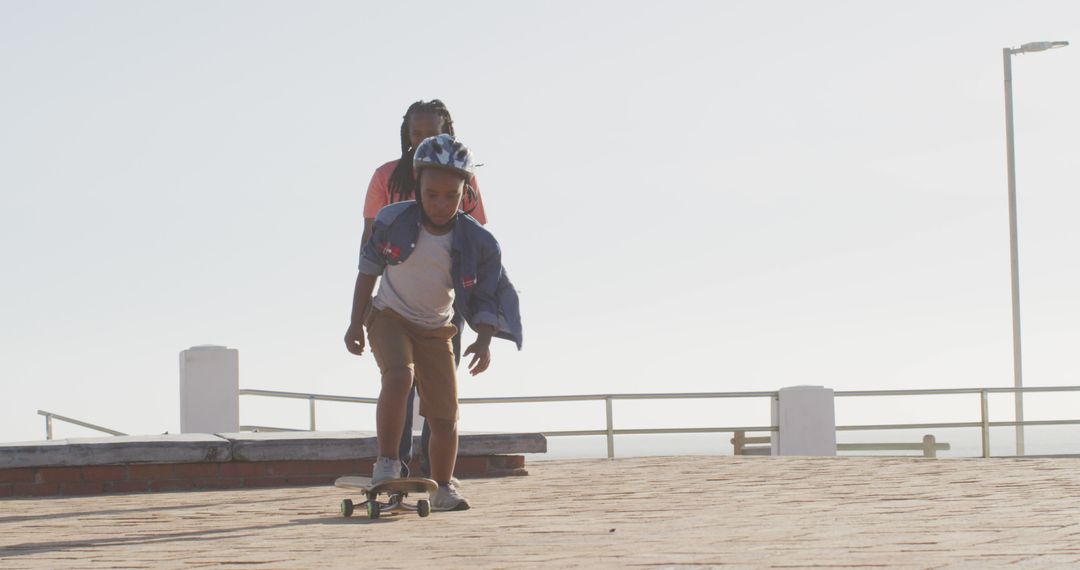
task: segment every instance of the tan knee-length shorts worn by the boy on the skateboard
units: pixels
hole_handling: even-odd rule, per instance
[[[408,368],[420,393],[420,416],[458,419],[458,381],[451,340],[458,327],[426,329],[391,311],[372,308],[367,339],[379,371]]]

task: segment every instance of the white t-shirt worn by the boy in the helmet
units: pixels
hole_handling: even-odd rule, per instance
[[[410,323],[441,328],[454,316],[454,281],[450,279],[450,244],[454,232],[434,235],[423,227],[416,247],[403,263],[387,266],[379,293],[372,303],[390,309]]]

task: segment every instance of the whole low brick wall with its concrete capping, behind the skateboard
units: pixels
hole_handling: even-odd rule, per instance
[[[419,438],[416,440],[419,446]],[[528,475],[540,434],[462,434],[455,475]],[[0,446],[0,498],[330,485],[370,475],[369,432],[119,436]],[[419,469],[413,462],[414,471]]]

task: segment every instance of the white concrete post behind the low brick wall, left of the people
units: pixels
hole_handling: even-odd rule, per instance
[[[240,352],[225,347],[180,351],[180,433],[240,431]]]

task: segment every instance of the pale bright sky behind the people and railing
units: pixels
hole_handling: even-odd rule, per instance
[[[245,388],[377,395],[341,341],[361,207],[434,97],[485,163],[525,323],[461,396],[1011,385],[1001,49],[1038,40],[1075,45],[1013,65],[1025,378],[1080,384],[1076,2],[4,1],[0,440],[42,438],[38,409],[176,432],[197,344],[239,349]],[[840,419],[977,415],[897,405]],[[300,402],[242,406],[306,425]],[[768,422],[619,406],[622,428]]]

